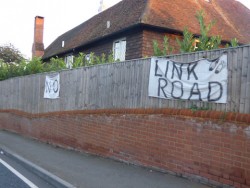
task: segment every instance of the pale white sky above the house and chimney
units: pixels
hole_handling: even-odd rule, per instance
[[[112,6],[121,0],[104,0]],[[225,0],[226,2],[227,0]],[[250,0],[238,0],[250,9]],[[44,47],[58,36],[98,14],[100,0],[2,0],[0,45],[13,44],[31,57],[35,16],[44,17]]]

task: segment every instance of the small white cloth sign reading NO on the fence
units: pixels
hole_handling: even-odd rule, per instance
[[[44,98],[57,99],[60,92],[60,75],[59,73],[47,75],[45,78]]]

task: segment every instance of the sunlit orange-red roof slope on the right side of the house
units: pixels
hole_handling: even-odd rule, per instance
[[[223,40],[237,38],[250,42],[250,10],[235,0],[150,0],[142,22],[182,31],[188,27],[199,34],[200,26],[195,17],[204,10],[207,23],[215,20],[211,35],[221,35]]]

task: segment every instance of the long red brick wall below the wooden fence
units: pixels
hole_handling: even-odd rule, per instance
[[[1,111],[0,128],[207,184],[250,187],[250,114],[173,109],[37,115]]]

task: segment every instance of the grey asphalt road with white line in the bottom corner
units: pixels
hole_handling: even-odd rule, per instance
[[[0,151],[0,188],[53,188]]]

